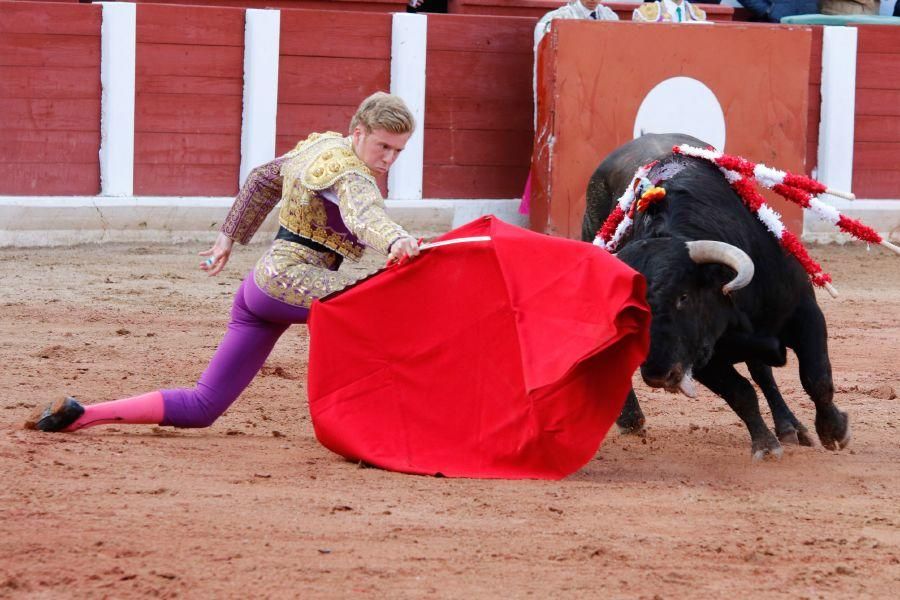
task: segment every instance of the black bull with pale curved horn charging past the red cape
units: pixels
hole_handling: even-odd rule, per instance
[[[806,272],[742,204],[715,166],[672,153],[672,147],[682,143],[708,146],[681,134],[644,135],[610,154],[587,188],[582,239],[592,241],[638,167],[660,161],[650,179],[664,177],[657,185],[666,190],[666,196],[645,212],[635,213],[631,233],[617,249],[617,256],[647,279],[653,320],[650,353],[641,366],[644,381],[670,391],[686,390],[693,374],[724,398],[747,426],[754,458],[780,456],[779,439],[811,444],[772,375],[772,365],[783,365],[785,348],[791,348],[803,389],[816,406],[816,432],[822,445],[843,448],[850,428],[846,413],[833,402],[825,319]],[[749,283],[734,281],[739,268],[734,260],[719,264],[706,252],[695,252],[704,244],[689,242],[698,240],[725,242],[739,249],[705,245],[718,247],[713,253],[724,249],[737,260],[749,257]],[[726,293],[723,286],[729,282],[745,286]],[[747,363],[769,402],[778,438],[763,421],[756,392],[735,369],[737,362]],[[644,415],[634,390],[617,423],[626,431],[643,427]]]

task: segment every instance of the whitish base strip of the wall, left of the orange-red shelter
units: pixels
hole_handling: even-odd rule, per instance
[[[99,242],[211,241],[231,197],[0,196],[0,247]],[[441,233],[486,214],[527,226],[519,200],[388,200],[388,214],[411,233]],[[261,231],[277,228],[277,209]]]

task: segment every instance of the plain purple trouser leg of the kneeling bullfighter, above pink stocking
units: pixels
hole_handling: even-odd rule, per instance
[[[162,390],[161,425],[212,425],[250,385],[281,334],[294,323],[306,323],[308,316],[309,309],[263,293],[251,272],[234,296],[228,330],[197,386]]]

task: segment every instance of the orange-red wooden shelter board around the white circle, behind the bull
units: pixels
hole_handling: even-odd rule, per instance
[[[674,76],[697,79],[716,95],[728,132],[725,152],[803,171],[806,121],[797,117],[807,114],[809,29],[694,27],[688,39],[683,29],[561,20],[550,30],[540,53],[538,127],[543,135],[534,152],[533,229],[580,237],[585,189],[599,159],[633,139],[642,99]],[[645,61],[635,77],[628,57],[646,48],[645,34],[650,30],[668,60]],[[760,60],[760,48],[778,60]],[[739,78],[722,68],[713,49],[740,65]],[[596,60],[598,56],[604,60]],[[777,102],[772,101],[771,90],[778,91]],[[774,194],[768,199],[787,227],[802,230],[798,206]]]

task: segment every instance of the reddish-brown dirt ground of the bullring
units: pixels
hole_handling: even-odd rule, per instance
[[[753,464],[723,401],[636,380],[646,436],[611,431],[563,481],[364,468],[313,435],[303,326],[209,429],[22,430],[64,393],[91,402],[196,379],[262,252],[240,249],[208,278],[201,249],[0,250],[0,597],[897,593],[900,258],[880,248],[811,249],[841,292],[819,301],[853,426],[842,452]],[[796,363],[777,376],[812,430]]]

